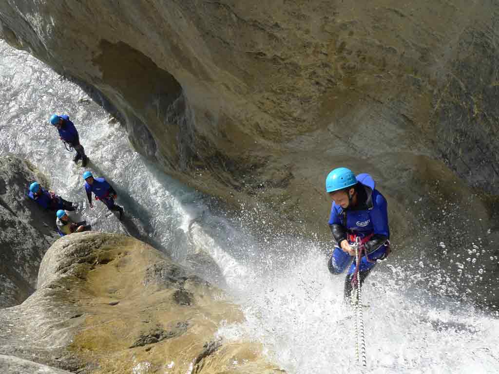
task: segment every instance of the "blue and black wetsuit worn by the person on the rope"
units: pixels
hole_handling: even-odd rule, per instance
[[[364,243],[369,261],[372,261],[369,262],[365,255],[360,259],[359,275],[362,282],[369,271],[376,266],[376,260],[386,256],[390,229],[386,199],[375,189],[374,180],[368,174],[359,174],[356,178],[358,183],[354,188],[357,192],[357,205],[343,209],[335,202],[332,203],[329,225],[336,245],[328,262],[328,268],[333,274],[342,273],[352,262],[353,257],[341,249],[340,243],[348,240],[353,244],[356,237],[359,237]],[[355,267],[354,261],[345,279],[345,296],[349,296],[350,279]]]

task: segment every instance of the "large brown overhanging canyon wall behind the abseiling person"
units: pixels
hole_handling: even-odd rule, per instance
[[[399,253],[429,256],[498,229],[482,195],[498,192],[498,14],[463,0],[0,4],[3,38],[103,93],[167,173],[328,238],[325,176],[369,172]]]

